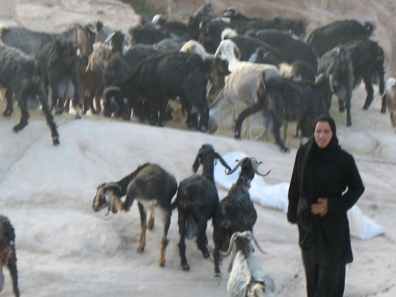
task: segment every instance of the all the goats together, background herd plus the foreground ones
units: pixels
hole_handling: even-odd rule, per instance
[[[301,142],[305,141],[317,116],[329,112],[333,95],[338,97],[339,110],[347,111],[346,123],[351,125],[352,91],[363,80],[367,91],[363,109],[373,100],[372,85],[379,84],[381,112],[388,107],[395,127],[396,77],[385,84],[384,51],[370,39],[375,25],[336,21],[315,29],[304,41],[305,26],[303,19],[249,18],[235,7],[216,15],[205,4],[184,22],[161,15],[151,22],[142,20],[131,27],[129,36],[99,21],[70,25],[60,34],[1,27],[3,116],[11,115],[15,99],[21,110],[21,119],[13,127],[18,132],[28,124],[29,107],[39,102],[52,143],[58,145],[51,111],[68,111],[70,100],[76,118],[89,110],[164,126],[179,111],[190,128],[209,133],[216,131],[231,107],[236,138],[252,137],[252,116],[261,111],[263,134],[269,130],[287,151],[287,124],[297,122]],[[223,164],[226,174],[241,169],[237,182],[220,201],[213,179],[215,160]],[[185,238],[196,237],[198,249],[209,257],[206,225],[211,219],[215,277],[220,277],[221,254],[232,256],[229,296],[273,296],[273,280],[252,256],[257,243],[251,232],[257,214],[247,190],[254,174],[259,174],[259,164],[244,158],[231,169],[210,145],[203,145],[193,164],[195,173],[202,166],[201,174],[178,185],[164,169],[146,163],[119,181],[100,185],[93,210],[128,211],[136,199],[141,217],[139,251],[145,248],[147,228],[154,225],[154,212],[160,214],[164,229],[159,265],[163,266],[170,215],[177,208],[183,270],[189,270]],[[148,222],[147,211],[151,211]],[[0,268],[8,266],[14,295],[19,296],[14,239],[10,222],[0,216]],[[0,269],[0,291],[2,286]]]

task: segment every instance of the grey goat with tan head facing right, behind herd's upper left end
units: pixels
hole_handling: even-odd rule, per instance
[[[58,34],[35,32],[16,26],[0,28],[0,42],[21,49],[33,57],[36,57],[41,47],[54,40],[70,41],[77,45],[82,54],[88,55],[92,52],[95,36],[90,26],[81,24],[70,25],[66,31]]]

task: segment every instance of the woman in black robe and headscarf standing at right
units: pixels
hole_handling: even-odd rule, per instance
[[[297,150],[288,195],[307,297],[344,295],[346,264],[353,260],[347,210],[363,192],[353,157],[338,145],[334,120],[318,117],[313,137]]]

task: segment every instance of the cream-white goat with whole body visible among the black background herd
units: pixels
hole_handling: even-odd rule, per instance
[[[217,96],[209,111],[210,116],[216,121],[221,120],[223,112],[231,105],[236,110],[233,111],[233,120],[245,108],[256,102],[258,80],[260,73],[264,73],[264,78],[280,77],[279,69],[274,65],[258,64],[240,61],[241,51],[232,40],[223,40],[215,53],[228,61],[228,69],[231,74],[226,78],[225,86]],[[248,116],[245,120],[245,127],[242,137],[251,138],[249,132],[254,115]]]

